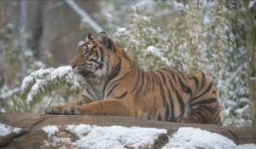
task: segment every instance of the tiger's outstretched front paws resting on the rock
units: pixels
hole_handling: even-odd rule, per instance
[[[44,109],[49,115],[75,115],[78,114],[73,106],[48,106]]]

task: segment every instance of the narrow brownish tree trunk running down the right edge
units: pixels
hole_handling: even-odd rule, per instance
[[[247,80],[249,86],[249,99],[253,102],[253,124],[252,128],[256,129],[256,27],[255,5],[249,7],[249,0],[246,1],[246,32],[247,32]]]

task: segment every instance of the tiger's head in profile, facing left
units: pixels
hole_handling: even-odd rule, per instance
[[[114,51],[114,43],[106,32],[100,32],[97,37],[89,34],[79,46],[71,66],[83,77],[106,76],[111,70],[109,63],[114,61]]]

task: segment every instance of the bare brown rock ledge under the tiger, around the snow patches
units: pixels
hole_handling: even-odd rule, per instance
[[[166,145],[168,142],[168,135],[171,136],[180,127],[193,127],[207,130],[212,133],[218,133],[219,135],[224,135],[230,140],[233,140],[237,145],[245,143],[256,144],[256,130],[254,129],[231,129],[209,124],[149,121],[135,117],[107,117],[90,115],[45,116],[37,114],[0,113],[0,123],[21,129],[19,133],[12,132],[6,136],[0,136],[0,147],[3,148],[50,148],[49,143],[55,143],[54,147],[57,148],[61,148],[62,146],[73,148],[73,144],[70,142],[79,140],[79,135],[69,131],[67,129],[67,125],[79,125],[81,123],[85,124],[83,127],[89,127],[89,132],[94,131],[94,129],[101,129],[102,127],[111,128],[110,126],[113,127],[114,125],[117,125],[114,127],[128,127],[128,131],[130,131],[130,129],[131,131],[133,131],[132,129],[136,129],[131,126],[152,129],[166,129],[166,133],[161,132],[157,135],[157,137],[154,139],[154,143],[150,145],[151,148],[161,148],[161,146]],[[96,126],[92,127],[91,125]],[[49,131],[48,133],[46,133],[46,130],[43,130],[43,128],[47,126],[49,127],[47,130]],[[58,131],[55,131],[55,129],[58,129]],[[52,133],[51,135],[50,131]],[[151,129],[148,130],[148,132],[151,132]],[[129,133],[127,136],[129,136]],[[131,146],[126,147],[132,148]]]

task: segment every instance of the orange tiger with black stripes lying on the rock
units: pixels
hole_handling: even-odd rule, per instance
[[[45,114],[141,117],[177,123],[221,125],[216,88],[204,72],[143,71],[124,49],[100,32],[88,34],[71,63],[84,78],[82,95]]]

